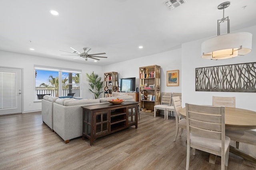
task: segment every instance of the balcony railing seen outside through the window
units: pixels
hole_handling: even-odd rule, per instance
[[[36,99],[38,99],[37,95],[45,95],[50,94],[52,97],[56,97],[58,90],[56,89],[36,89]],[[68,95],[68,89],[62,89],[62,96]],[[71,93],[75,93],[74,97],[80,97],[80,89],[71,89]]]

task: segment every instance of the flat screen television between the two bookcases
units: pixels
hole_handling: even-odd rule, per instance
[[[134,92],[135,91],[135,77],[122,78],[118,82],[119,92]]]

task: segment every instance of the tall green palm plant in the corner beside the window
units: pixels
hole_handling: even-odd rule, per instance
[[[103,81],[101,81],[101,77],[98,74],[95,74],[94,71],[89,75],[86,73],[87,81],[89,81],[90,89],[89,91],[94,94],[95,99],[98,99],[103,91],[100,91],[103,88]]]

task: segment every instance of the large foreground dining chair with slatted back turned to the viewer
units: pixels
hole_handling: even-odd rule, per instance
[[[228,166],[230,138],[225,136],[225,107],[202,106],[186,103],[187,161],[189,169],[190,147],[221,156],[221,169]]]

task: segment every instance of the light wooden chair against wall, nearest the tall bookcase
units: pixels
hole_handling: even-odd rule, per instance
[[[156,111],[164,111],[164,119],[166,119],[166,107],[171,105],[172,93],[162,93],[160,105],[154,106],[154,117],[156,117]]]

